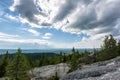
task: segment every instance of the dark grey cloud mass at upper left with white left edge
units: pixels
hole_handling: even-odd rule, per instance
[[[10,7],[10,10],[18,11],[21,17],[38,24],[38,20],[34,15],[37,15],[39,12],[36,9],[34,0],[14,0],[14,4]]]

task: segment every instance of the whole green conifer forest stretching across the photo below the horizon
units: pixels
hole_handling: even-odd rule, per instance
[[[112,35],[105,36],[100,50],[94,49],[93,52],[79,52],[74,47],[71,53],[30,53],[24,54],[21,49],[15,54],[8,51],[0,57],[0,77],[11,80],[30,80],[29,70],[45,65],[67,63],[70,67],[69,72],[80,69],[82,65],[105,61],[120,56],[120,41],[114,39]],[[57,74],[50,80],[58,80]]]

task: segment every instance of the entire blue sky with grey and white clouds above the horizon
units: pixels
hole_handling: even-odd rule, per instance
[[[100,48],[120,39],[120,0],[0,0],[0,49]]]

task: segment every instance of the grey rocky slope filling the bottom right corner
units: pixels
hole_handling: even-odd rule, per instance
[[[120,57],[85,65],[60,80],[120,80]]]

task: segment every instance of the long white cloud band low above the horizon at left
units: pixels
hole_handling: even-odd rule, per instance
[[[51,42],[44,39],[23,39],[18,35],[10,35],[0,32],[0,42],[20,43],[20,44],[38,44],[43,46],[50,46]],[[16,44],[14,44],[16,45]]]

